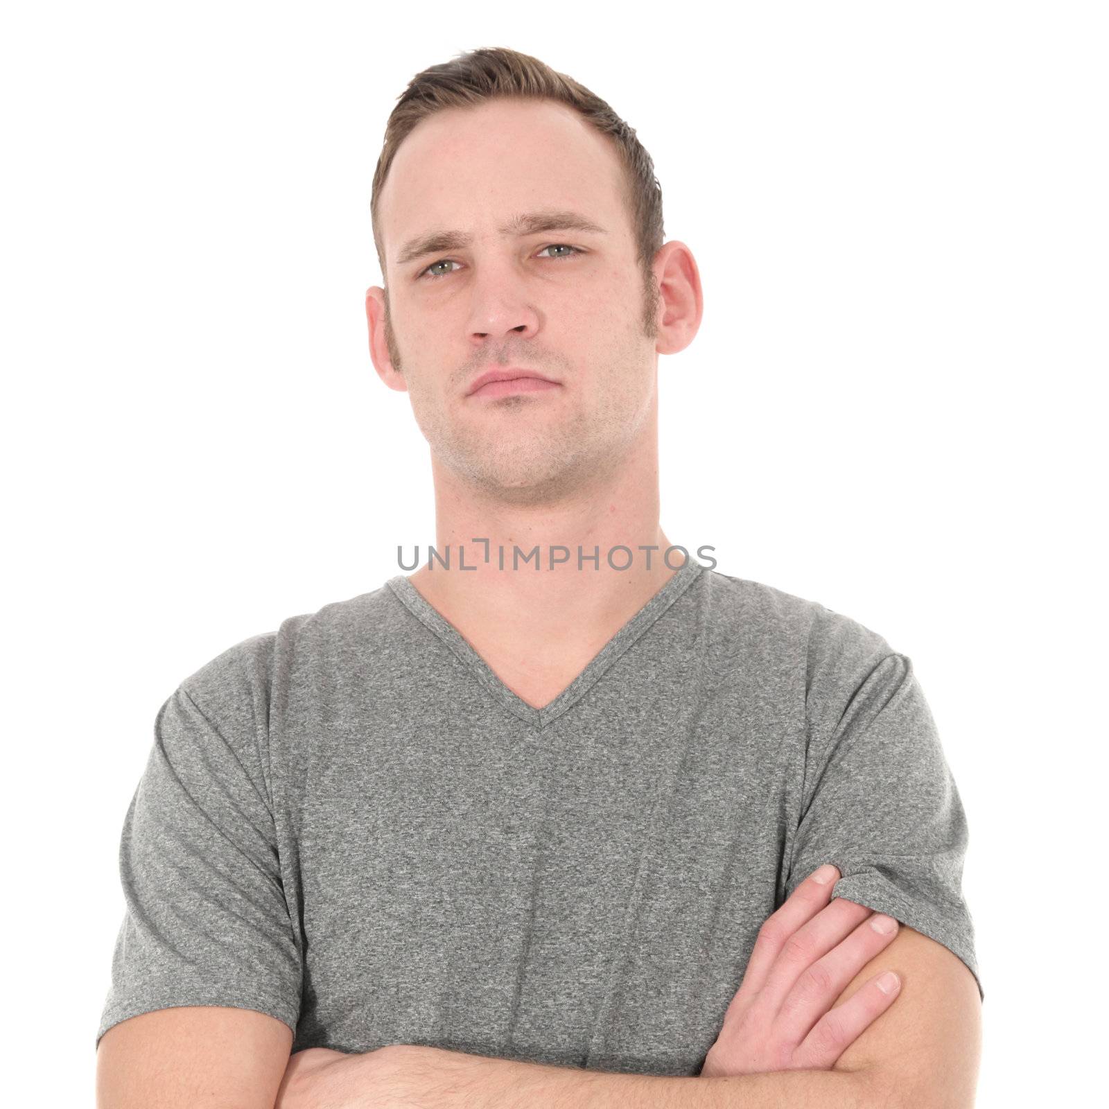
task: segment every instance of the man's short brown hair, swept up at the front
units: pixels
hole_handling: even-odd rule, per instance
[[[662,189],[651,155],[609,105],[583,84],[530,54],[505,47],[487,47],[430,65],[408,82],[385,125],[385,142],[374,171],[369,212],[377,261],[385,277],[385,257],[377,222],[377,202],[397,149],[413,129],[445,108],[466,108],[496,98],[557,100],[569,104],[601,134],[609,135],[624,166],[624,203],[635,236],[637,258],[649,292],[655,291],[651,264],[662,247]]]

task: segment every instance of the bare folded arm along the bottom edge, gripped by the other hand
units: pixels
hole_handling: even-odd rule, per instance
[[[971,1109],[980,1004],[970,971],[909,927],[872,959],[832,1011],[882,970],[902,979],[897,1000],[831,1070],[775,1070],[719,1078],[609,1074],[396,1045],[366,1055],[298,1052],[293,1068],[330,1059],[328,1093],[343,1109],[393,1105],[455,1109]],[[301,1059],[299,1056],[305,1058]],[[321,1072],[323,1079],[323,1072]],[[285,1088],[275,1109],[307,1109],[315,1078]]]

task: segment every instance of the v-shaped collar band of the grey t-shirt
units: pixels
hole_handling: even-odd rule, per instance
[[[700,577],[704,566],[694,559],[676,570],[662,588],[593,655],[586,669],[553,701],[537,709],[513,693],[492,668],[470,647],[466,638],[436,609],[424,594],[398,573],[386,584],[405,608],[426,624],[470,669],[492,699],[533,729],[541,729],[576,704],[598,682],[601,675],[678,600]]]

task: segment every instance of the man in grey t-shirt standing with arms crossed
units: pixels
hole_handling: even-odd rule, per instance
[[[966,822],[909,660],[660,527],[702,296],[634,132],[475,51],[409,85],[372,207],[440,557],[163,705],[101,1103],[969,1105]]]

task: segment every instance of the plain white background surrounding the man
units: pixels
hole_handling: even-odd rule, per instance
[[[637,129],[700,267],[660,359],[667,533],[913,659],[970,827],[978,1105],[1076,1102],[1106,985],[1103,11],[10,11],[6,1082],[92,1105],[119,836],[177,682],[434,541],[367,350],[370,180],[416,72],[506,45]]]

